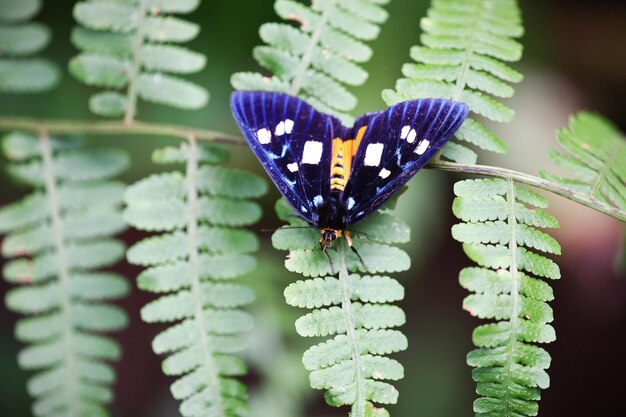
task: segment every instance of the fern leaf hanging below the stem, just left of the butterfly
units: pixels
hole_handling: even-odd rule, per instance
[[[195,141],[153,154],[159,164],[186,163],[186,172],[155,174],[129,187],[126,220],[158,232],[129,249],[128,261],[145,266],[139,288],[159,294],[141,310],[144,321],[172,323],[152,342],[169,355],[163,371],[178,380],[171,391],[183,416],[240,416],[247,393],[234,376],[244,363],[233,354],[245,348],[252,317],[241,307],[254,300],[247,287],[231,281],[252,271],[256,236],[239,226],[259,220],[248,199],[267,190],[260,178],[213,165],[228,153]]]

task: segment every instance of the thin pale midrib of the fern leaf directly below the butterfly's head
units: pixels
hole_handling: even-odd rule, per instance
[[[339,282],[341,284],[341,309],[346,320],[346,335],[350,340],[352,362],[354,363],[354,382],[356,385],[356,397],[352,405],[350,417],[365,417],[365,378],[363,376],[363,364],[361,363],[361,349],[356,336],[354,317],[352,316],[350,284],[348,281],[348,268],[346,267],[346,245],[345,239],[339,245]]]

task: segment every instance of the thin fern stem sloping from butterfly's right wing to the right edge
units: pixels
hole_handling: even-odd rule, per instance
[[[609,204],[606,204],[596,198],[592,198],[587,194],[582,194],[576,191],[573,191],[569,188],[562,187],[557,185],[551,181],[545,180],[540,177],[535,177],[530,174],[525,174],[523,172],[514,171],[511,169],[494,167],[489,165],[469,165],[469,164],[456,164],[452,162],[443,162],[439,161],[436,163],[429,163],[427,168],[440,169],[442,171],[452,171],[452,172],[464,172],[469,174],[480,174],[485,175],[487,177],[497,177],[497,178],[505,178],[512,179],[515,182],[530,185],[533,187],[541,188],[542,190],[550,191],[554,194],[560,195],[561,197],[565,197],[568,200],[575,201],[577,203],[582,204],[585,207],[589,207],[600,213],[604,213],[608,216],[614,217],[617,220],[622,222],[626,222],[626,210],[620,210],[617,207],[613,207]]]

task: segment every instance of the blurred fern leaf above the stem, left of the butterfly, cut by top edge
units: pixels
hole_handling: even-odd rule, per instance
[[[179,76],[202,70],[206,57],[176,45],[195,38],[199,27],[175,15],[190,13],[198,4],[98,0],[74,6],[81,26],[72,31],[72,43],[82,53],[69,69],[85,84],[102,88],[89,100],[92,112],[132,121],[137,97],[183,109],[206,104],[208,92]]]

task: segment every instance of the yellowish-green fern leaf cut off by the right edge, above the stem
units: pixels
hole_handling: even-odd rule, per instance
[[[574,192],[626,210],[626,138],[611,122],[588,112],[574,114],[567,128],[557,132],[563,150],[550,157],[576,178],[547,171],[541,176]]]

